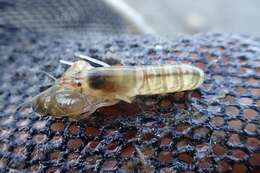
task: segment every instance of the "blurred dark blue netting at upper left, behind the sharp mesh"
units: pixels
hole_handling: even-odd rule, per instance
[[[125,21],[103,1],[1,0],[0,26],[84,35],[128,32]]]

